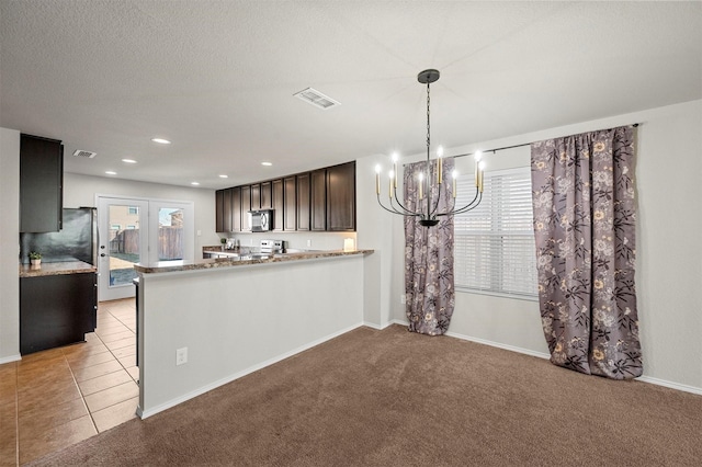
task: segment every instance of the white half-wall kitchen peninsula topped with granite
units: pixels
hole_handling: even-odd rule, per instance
[[[138,414],[150,417],[362,326],[372,253],[135,265]]]

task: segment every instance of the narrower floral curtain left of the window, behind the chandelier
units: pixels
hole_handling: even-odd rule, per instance
[[[443,180],[451,180],[453,158],[443,160]],[[419,198],[420,172],[427,162],[405,166],[405,206],[410,210],[427,209],[427,194]],[[453,206],[451,183],[437,185],[437,162],[431,161],[431,204],[439,197],[438,213]],[[426,176],[426,174],[424,174]],[[409,330],[421,334],[441,335],[449,330],[455,305],[453,288],[453,216],[439,217],[434,227],[422,227],[419,217],[405,216],[405,297]]]

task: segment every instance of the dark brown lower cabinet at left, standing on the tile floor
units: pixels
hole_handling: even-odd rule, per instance
[[[98,324],[95,273],[20,278],[20,353],[86,340]]]

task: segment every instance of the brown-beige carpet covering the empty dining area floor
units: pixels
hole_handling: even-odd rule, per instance
[[[702,396],[360,328],[33,465],[700,466]]]

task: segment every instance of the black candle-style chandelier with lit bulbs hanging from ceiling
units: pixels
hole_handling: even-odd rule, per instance
[[[475,196],[471,203],[466,204],[463,207],[456,208],[456,179],[458,176],[458,172],[455,170],[452,173],[452,187],[453,187],[453,204],[451,208],[448,208],[442,212],[438,212],[439,201],[441,198],[441,190],[435,190],[438,193],[437,200],[432,204],[431,194],[432,186],[430,180],[429,168],[431,164],[431,124],[430,124],[430,94],[429,94],[429,86],[432,82],[439,80],[439,70],[429,69],[417,75],[417,81],[422,84],[427,84],[427,167],[423,172],[419,173],[419,202],[417,203],[418,210],[408,209],[397,197],[397,153],[393,155],[393,170],[389,172],[389,206],[386,206],[381,201],[381,167],[377,166],[375,168],[375,192],[377,194],[377,203],[381,207],[389,213],[398,214],[400,216],[412,216],[419,217],[419,224],[423,227],[433,227],[439,224],[438,217],[442,216],[451,216],[454,214],[463,214],[471,209],[477,207],[480,204],[480,200],[483,198],[483,172],[484,172],[484,163],[480,161],[480,152],[475,153]],[[435,185],[441,187],[440,185],[443,183],[443,149],[441,146],[437,149],[437,176],[435,176]],[[434,186],[435,186],[434,185]],[[426,203],[423,203],[426,202]]]

